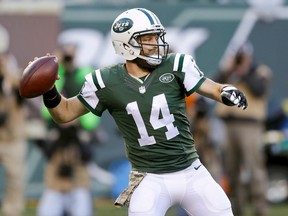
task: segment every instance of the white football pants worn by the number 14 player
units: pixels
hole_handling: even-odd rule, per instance
[[[164,216],[175,204],[191,216],[233,216],[228,197],[200,160],[179,172],[147,173],[131,196],[129,216]]]

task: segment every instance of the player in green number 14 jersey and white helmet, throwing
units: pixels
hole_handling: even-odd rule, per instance
[[[129,185],[115,205],[128,206],[129,216],[164,216],[175,204],[193,216],[232,216],[229,199],[199,160],[185,97],[198,93],[244,110],[245,95],[205,77],[192,56],[169,53],[164,35],[151,11],[123,12],[111,38],[125,63],[86,75],[71,98],[54,86],[43,95],[44,104],[59,124],[88,112],[113,116],[132,165]]]

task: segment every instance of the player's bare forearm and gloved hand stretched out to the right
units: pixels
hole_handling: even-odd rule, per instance
[[[234,86],[220,84],[211,79],[206,79],[197,92],[203,96],[214,99],[227,106],[238,106],[243,110],[247,108],[248,102],[245,94]]]

